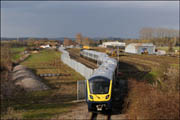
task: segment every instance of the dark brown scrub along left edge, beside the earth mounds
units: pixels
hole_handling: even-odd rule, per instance
[[[11,80],[12,61],[9,45],[1,46],[1,103],[15,100],[24,93],[24,90],[16,86]],[[10,104],[1,104],[1,113],[6,111]]]

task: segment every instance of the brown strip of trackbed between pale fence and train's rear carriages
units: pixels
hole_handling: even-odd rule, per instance
[[[97,68],[97,64],[96,64],[96,63],[94,63],[94,62],[92,62],[92,61],[89,61],[89,60],[87,60],[87,59],[85,59],[85,58],[82,58],[82,57],[80,56],[80,53],[79,53],[79,52],[73,51],[73,50],[71,50],[71,49],[68,49],[68,52],[69,52],[69,55],[70,55],[70,57],[71,57],[72,59],[74,59],[74,60],[76,60],[76,61],[84,64],[85,66],[87,66],[87,67],[89,67],[89,68],[91,68],[91,69],[96,69],[96,68]]]

